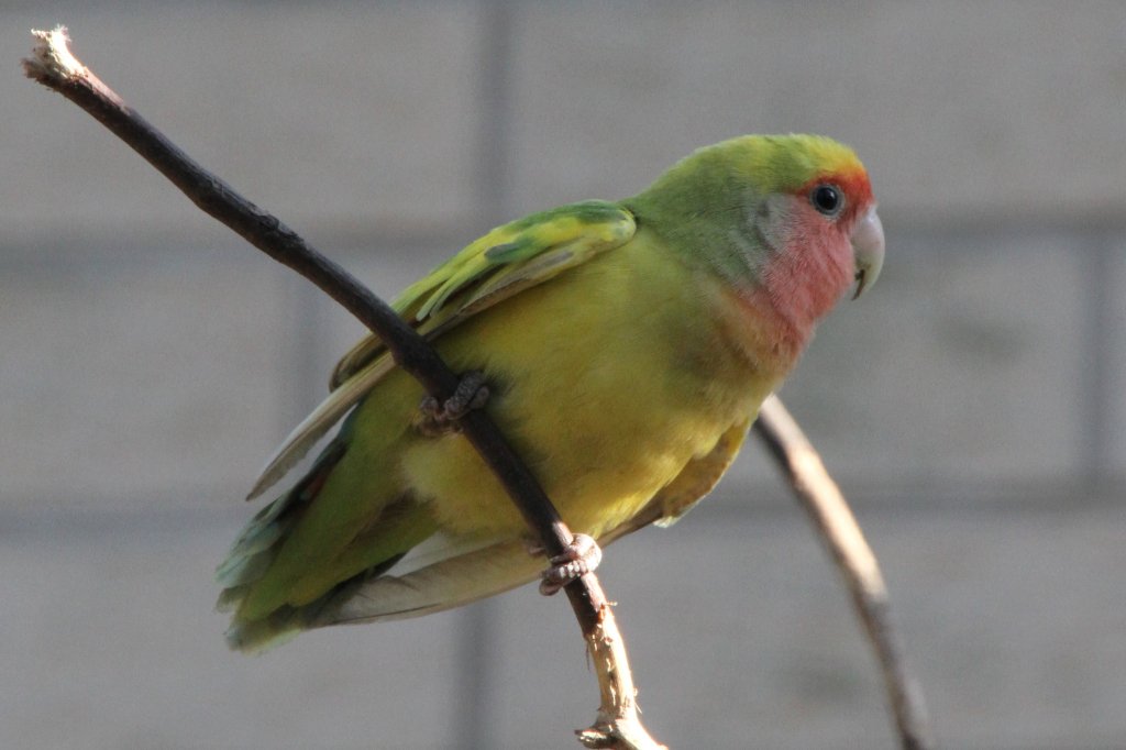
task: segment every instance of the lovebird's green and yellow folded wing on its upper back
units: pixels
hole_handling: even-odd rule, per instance
[[[628,211],[604,200],[531,214],[498,226],[467,245],[406,287],[392,306],[434,339],[502,300],[620,247],[635,231]],[[332,373],[332,393],[286,438],[248,499],[280,480],[394,367],[375,336],[354,347]]]

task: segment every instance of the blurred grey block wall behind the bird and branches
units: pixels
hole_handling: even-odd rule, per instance
[[[562,598],[227,652],[214,565],[361,330],[25,80],[29,28],[383,295],[491,225],[748,132],[854,145],[885,275],[785,401],[883,564],[944,747],[1126,747],[1126,6],[0,5],[0,745],[574,748]],[[674,748],[892,748],[753,440],[610,547]]]

